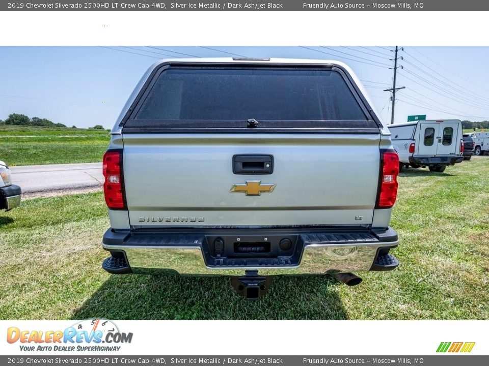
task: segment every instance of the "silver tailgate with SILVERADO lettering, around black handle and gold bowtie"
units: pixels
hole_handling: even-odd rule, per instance
[[[370,224],[379,141],[373,133],[123,134],[130,225]],[[272,156],[273,172],[235,174],[235,155]],[[259,195],[247,194],[252,185]]]

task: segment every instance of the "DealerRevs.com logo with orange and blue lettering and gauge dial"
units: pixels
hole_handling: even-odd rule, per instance
[[[7,342],[19,343],[21,351],[119,351],[120,344],[131,343],[132,333],[124,333],[114,322],[88,319],[65,330],[7,329]]]

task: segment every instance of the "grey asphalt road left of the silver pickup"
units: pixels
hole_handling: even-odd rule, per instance
[[[12,183],[22,193],[76,191],[103,184],[102,163],[11,166],[10,171]]]

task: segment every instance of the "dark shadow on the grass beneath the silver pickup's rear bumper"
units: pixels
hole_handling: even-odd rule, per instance
[[[338,285],[329,276],[276,276],[250,301],[224,276],[112,275],[72,319],[347,319]]]

